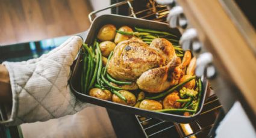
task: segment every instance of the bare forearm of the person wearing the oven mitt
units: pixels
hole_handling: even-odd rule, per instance
[[[0,64],[0,103],[11,103],[11,85],[7,68]]]

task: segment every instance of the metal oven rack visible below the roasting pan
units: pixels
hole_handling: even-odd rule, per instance
[[[221,107],[222,105],[219,103],[219,99],[214,94],[208,97],[205,101],[204,108],[198,119],[189,124],[161,121],[142,116],[136,116],[136,118],[140,127],[142,127],[145,137],[164,137],[175,130],[178,131],[180,137],[204,137],[207,136],[213,127],[214,120]]]

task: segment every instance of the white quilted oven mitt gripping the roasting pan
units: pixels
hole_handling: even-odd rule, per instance
[[[8,120],[0,124],[47,121],[88,106],[75,98],[67,83],[82,43],[81,37],[73,36],[40,58],[4,62],[10,75],[13,105],[7,110]]]

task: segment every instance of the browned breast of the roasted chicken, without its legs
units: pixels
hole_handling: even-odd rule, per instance
[[[163,64],[164,58],[157,50],[137,38],[131,38],[117,44],[107,71],[115,79],[136,81],[145,71]]]

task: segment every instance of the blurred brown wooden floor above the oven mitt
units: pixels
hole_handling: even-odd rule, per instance
[[[86,31],[86,0],[0,0],[0,45]]]

